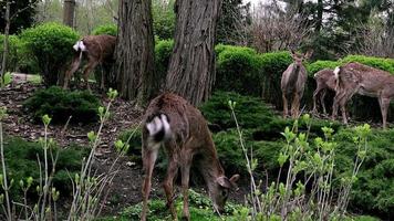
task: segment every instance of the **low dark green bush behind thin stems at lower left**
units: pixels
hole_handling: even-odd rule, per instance
[[[89,154],[87,148],[77,146],[70,146],[66,149],[59,149],[53,147],[53,152],[59,152],[59,159],[56,164],[56,172],[53,178],[53,183],[56,190],[61,191],[62,197],[70,197],[72,186],[70,177],[81,170],[82,158]],[[38,164],[38,157],[43,165],[43,148],[39,143],[25,141],[21,138],[9,137],[4,141],[4,156],[7,162],[7,169],[9,178],[13,179],[15,183],[20,180],[25,181],[28,177],[34,179],[30,197],[37,196],[35,186],[39,185],[40,169]],[[14,199],[22,197],[22,190],[19,185],[13,185],[11,193]]]

